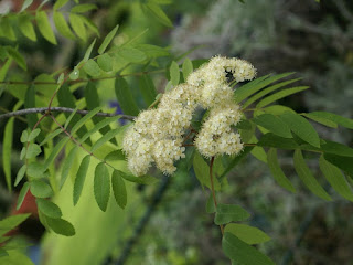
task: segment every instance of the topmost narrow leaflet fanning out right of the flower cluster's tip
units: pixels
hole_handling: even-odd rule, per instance
[[[279,74],[279,75],[272,75],[272,76],[265,75],[259,78],[256,78],[256,80],[247,83],[246,85],[238,87],[234,92],[235,100],[240,103],[242,100],[254,95],[256,92],[264,88],[265,86],[267,86],[278,80],[285,78],[291,74],[293,74],[293,73],[284,73],[284,74]]]

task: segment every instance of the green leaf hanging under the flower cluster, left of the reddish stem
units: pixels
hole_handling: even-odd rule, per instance
[[[193,167],[195,176],[200,183],[211,189],[210,166],[205,162],[205,160],[199,152],[194,155]],[[221,183],[215,176],[213,176],[213,183],[215,190],[221,190]]]

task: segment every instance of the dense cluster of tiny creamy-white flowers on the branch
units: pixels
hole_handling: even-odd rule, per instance
[[[122,149],[128,167],[136,176],[156,166],[167,174],[176,168],[174,161],[184,158],[183,135],[190,127],[196,107],[208,109],[194,145],[205,157],[237,155],[243,149],[240,136],[232,130],[242,113],[233,99],[228,75],[236,82],[253,80],[256,70],[244,60],[215,56],[191,73],[186,83],[165,93],[158,108],[145,110],[127,130]]]

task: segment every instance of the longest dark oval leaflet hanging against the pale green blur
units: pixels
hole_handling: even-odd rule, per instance
[[[107,210],[110,195],[109,172],[105,163],[98,163],[96,167],[94,191],[99,209],[105,212]]]

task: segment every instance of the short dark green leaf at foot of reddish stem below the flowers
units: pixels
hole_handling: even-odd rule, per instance
[[[218,204],[216,208],[214,223],[220,225],[231,222],[239,222],[247,220],[250,214],[239,205]]]

